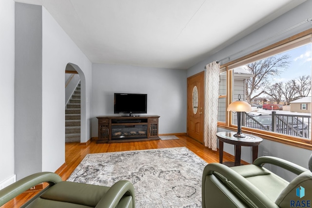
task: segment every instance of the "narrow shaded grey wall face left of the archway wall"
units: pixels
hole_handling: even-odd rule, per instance
[[[14,154],[18,179],[42,170],[41,14],[41,6],[15,4]]]

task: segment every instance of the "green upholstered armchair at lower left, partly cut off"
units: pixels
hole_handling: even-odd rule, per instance
[[[129,181],[112,187],[62,181],[56,173],[29,175],[0,190],[0,207],[40,183],[49,186],[30,199],[27,208],[135,208],[135,190]]]

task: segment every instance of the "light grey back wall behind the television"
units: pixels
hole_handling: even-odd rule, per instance
[[[97,116],[114,115],[114,93],[146,93],[147,114],[159,115],[159,134],[186,132],[186,70],[92,64],[92,137]]]

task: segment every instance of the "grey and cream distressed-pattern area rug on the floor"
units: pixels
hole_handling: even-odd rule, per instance
[[[137,208],[201,208],[206,165],[186,147],[88,154],[68,181],[110,187],[129,180]]]

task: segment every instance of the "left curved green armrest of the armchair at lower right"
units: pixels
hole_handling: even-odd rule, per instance
[[[211,175],[214,172],[221,174],[229,181],[231,181],[240,191],[242,191],[258,208],[278,208],[278,206],[263,192],[258,190],[251,182],[246,178],[236,173],[231,168],[220,164],[220,163],[210,163],[203,171],[203,186],[205,184],[206,175]],[[202,200],[204,204],[204,189],[202,193]]]

